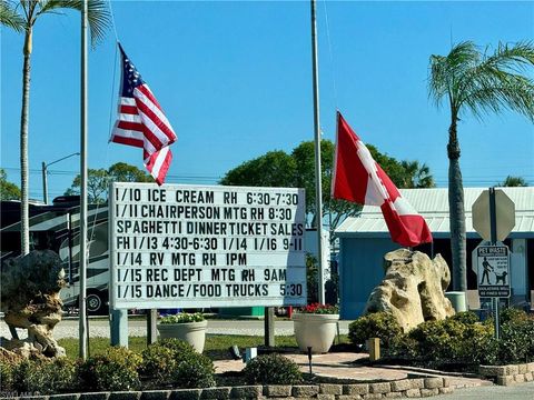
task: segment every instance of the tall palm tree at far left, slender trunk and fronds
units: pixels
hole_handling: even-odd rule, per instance
[[[58,13],[61,9],[80,10],[83,0],[0,0],[0,23],[24,32],[22,53],[22,110],[20,117],[20,188],[21,188],[21,252],[30,251],[28,204],[28,122],[30,110],[30,57],[32,51],[33,24],[46,13]],[[88,0],[88,20],[93,46],[103,38],[109,26],[109,11],[105,0]]]

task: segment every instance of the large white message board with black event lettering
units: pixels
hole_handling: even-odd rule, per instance
[[[306,304],[304,189],[112,183],[116,309]]]

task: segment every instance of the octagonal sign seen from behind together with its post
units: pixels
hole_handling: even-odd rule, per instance
[[[497,240],[504,240],[515,226],[515,204],[502,190],[490,188],[475,200],[472,208],[473,228],[492,247],[497,248]],[[476,251],[476,249],[475,249]],[[481,288],[478,287],[478,293]],[[481,296],[482,297],[482,296]],[[493,297],[495,309],[495,338],[498,339],[498,297]]]

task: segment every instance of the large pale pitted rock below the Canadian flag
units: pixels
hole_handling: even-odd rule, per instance
[[[386,276],[367,300],[365,313],[393,313],[405,332],[428,320],[454,314],[445,290],[451,272],[441,254],[433,260],[418,251],[398,249],[384,257]]]

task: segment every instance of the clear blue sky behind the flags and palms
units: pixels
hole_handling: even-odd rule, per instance
[[[112,1],[119,40],[178,134],[167,182],[215,184],[270,150],[314,139],[307,1]],[[336,108],[362,137],[397,160],[431,167],[447,183],[448,110],[427,97],[431,54],[452,42],[481,46],[534,39],[534,2],[319,1],[320,122],[335,139]],[[30,100],[30,197],[42,198],[41,162],[79,151],[79,13],[44,16],[34,27]],[[23,38],[1,31],[1,160],[19,183]],[[108,143],[119,69],[113,30],[89,57],[89,168],[140,149]],[[458,126],[466,187],[506,176],[534,184],[534,128],[504,113]],[[73,157],[50,167],[49,196],[79,170]]]

